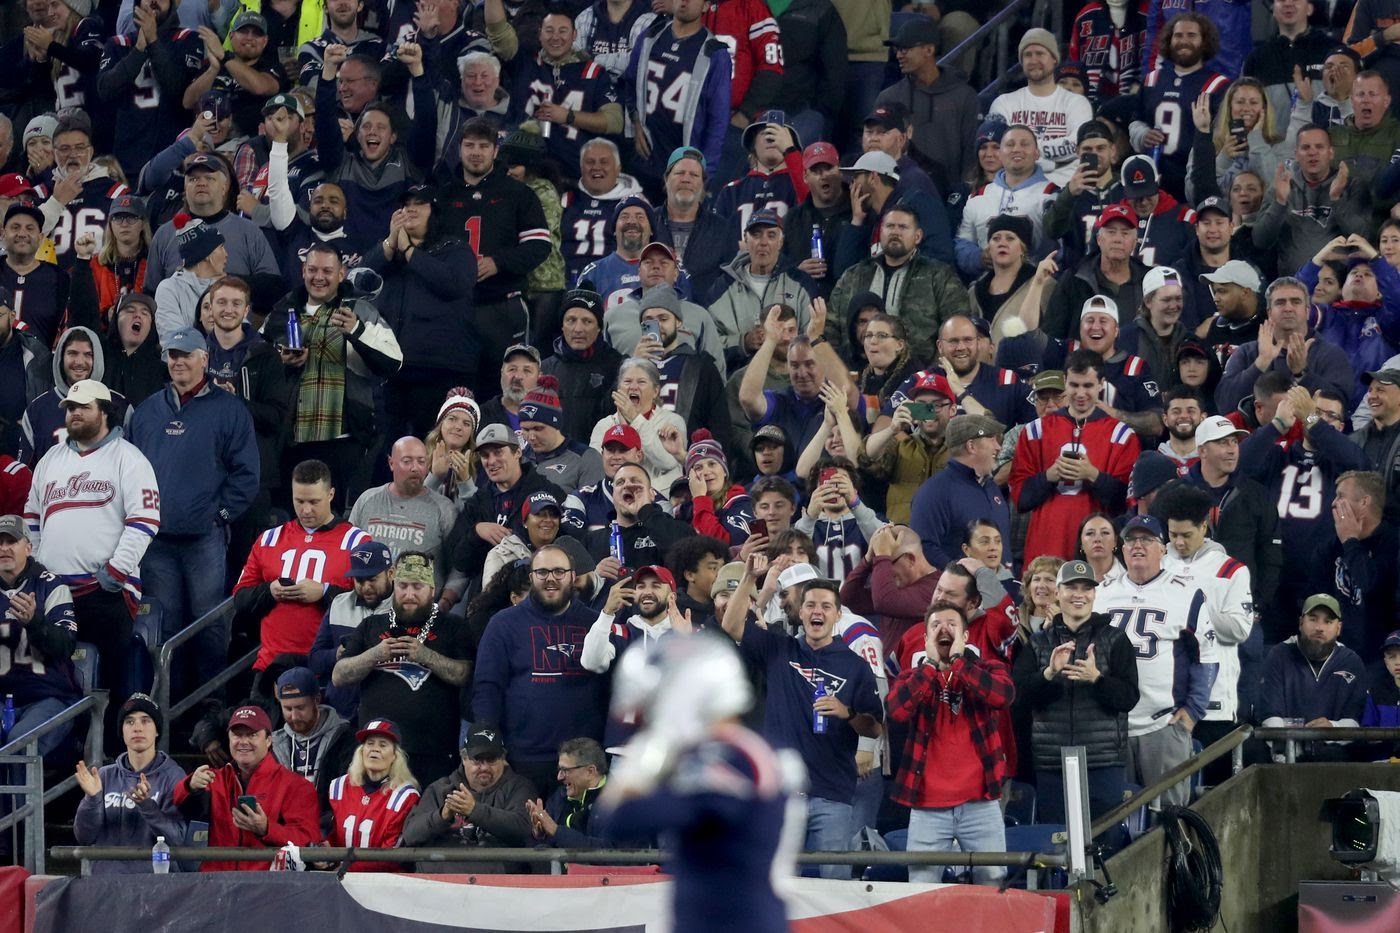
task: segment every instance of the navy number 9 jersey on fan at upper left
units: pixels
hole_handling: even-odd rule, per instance
[[[169,53],[176,73],[168,81],[161,80],[153,59],[147,57],[130,87],[106,102],[116,123],[112,154],[129,178],[136,178],[155,153],[189,126],[189,111],[181,101],[181,92],[204,70],[204,42],[197,34],[175,29],[161,34],[158,41],[175,46]],[[108,39],[101,70],[118,67],[134,48],[134,34]]]

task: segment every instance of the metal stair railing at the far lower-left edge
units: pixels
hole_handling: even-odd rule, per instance
[[[43,787],[43,756],[39,755],[39,740],[53,733],[62,726],[69,726],[73,720],[88,716],[87,744],[84,758],[88,762],[102,762],[102,716],[106,713],[106,691],[90,691],[87,696],[73,703],[62,713],[52,716],[29,731],[11,738],[0,747],[0,768],[24,766],[24,782],[0,785],[0,794],[15,799],[21,797],[10,813],[0,817],[0,832],[11,831],[24,821],[24,867],[34,874],[43,874],[43,806],[73,787],[77,787],[77,775],[69,775],[48,790]]]

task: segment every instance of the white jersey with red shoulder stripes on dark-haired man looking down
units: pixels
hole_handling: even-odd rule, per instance
[[[1221,665],[1215,685],[1211,686],[1211,706],[1205,719],[1235,721],[1239,710],[1239,646],[1254,628],[1249,567],[1210,539],[1190,560],[1179,558],[1169,548],[1162,565],[1169,573],[1186,577],[1205,591],[1205,607],[1211,628],[1215,629],[1215,650]]]

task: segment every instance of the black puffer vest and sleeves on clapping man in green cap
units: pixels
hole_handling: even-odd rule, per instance
[[[1053,681],[1044,678],[1056,646],[1071,640],[1075,660],[1093,646],[1103,672],[1098,682],[1078,684],[1063,674]],[[1016,654],[1012,681],[1016,703],[1032,712],[1036,770],[1060,770],[1061,745],[1084,745],[1089,768],[1121,766],[1127,761],[1128,710],[1138,702],[1137,653],[1109,616],[1095,612],[1078,632],[1070,632],[1057,615]]]

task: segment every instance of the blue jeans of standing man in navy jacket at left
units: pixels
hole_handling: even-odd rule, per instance
[[[141,560],[146,594],[161,611],[161,640],[199,619],[224,600],[224,560],[228,549],[223,527],[178,539],[157,535]],[[192,682],[203,684],[228,665],[230,625],[211,625],[182,649],[176,661],[181,674],[190,670]],[[178,684],[183,677],[175,678]],[[183,684],[182,684],[183,685]],[[178,691],[185,693],[186,689]],[[174,696],[172,696],[174,699]]]

